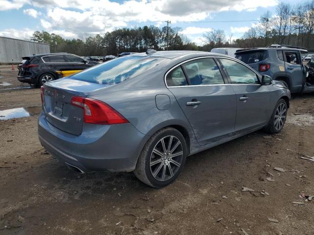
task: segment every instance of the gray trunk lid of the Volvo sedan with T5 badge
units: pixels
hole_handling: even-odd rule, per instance
[[[80,135],[83,128],[83,109],[71,105],[73,96],[88,94],[109,85],[89,83],[70,78],[45,83],[45,114],[47,121],[56,128],[73,135]]]

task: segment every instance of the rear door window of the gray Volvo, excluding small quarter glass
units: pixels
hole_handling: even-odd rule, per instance
[[[224,79],[212,58],[192,60],[183,64],[191,85],[224,84]]]

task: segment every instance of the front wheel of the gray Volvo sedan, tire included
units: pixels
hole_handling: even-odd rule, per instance
[[[281,132],[287,119],[288,106],[284,99],[278,100],[265,131],[270,134]]]

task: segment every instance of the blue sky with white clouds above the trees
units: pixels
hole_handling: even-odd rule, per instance
[[[286,0],[292,5],[302,0]],[[223,29],[240,38],[263,12],[275,14],[278,0],[0,0],[0,36],[29,39],[35,30],[64,38],[84,39],[119,27],[142,25],[181,27],[182,34],[202,45],[203,34]],[[180,22],[196,23],[180,23]],[[211,21],[202,23],[204,21]]]

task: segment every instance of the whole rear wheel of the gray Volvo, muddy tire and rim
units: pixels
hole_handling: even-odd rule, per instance
[[[185,159],[186,142],[183,135],[174,128],[164,128],[145,144],[134,174],[151,187],[165,187],[178,177]]]

